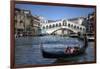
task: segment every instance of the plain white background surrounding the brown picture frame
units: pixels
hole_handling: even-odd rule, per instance
[[[26,1],[26,0],[25,0]],[[30,0],[31,1],[31,0]],[[97,64],[37,67],[34,69],[98,69],[100,68],[100,0],[32,0],[68,4],[97,5]],[[0,0],[0,69],[10,67],[10,0]],[[33,69],[33,68],[27,68]]]

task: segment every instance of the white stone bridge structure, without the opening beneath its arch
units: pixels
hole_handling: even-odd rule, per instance
[[[42,25],[42,33],[47,33],[47,34],[52,34],[58,30],[63,30],[63,29],[73,33],[78,33],[78,32],[84,33],[86,31],[85,26],[67,20]]]

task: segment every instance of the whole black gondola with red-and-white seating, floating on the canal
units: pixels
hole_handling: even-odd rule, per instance
[[[65,58],[65,57],[73,57],[73,56],[77,56],[77,55],[82,55],[85,53],[85,50],[87,48],[87,38],[86,36],[84,37],[84,45],[80,48],[78,46],[74,46],[72,48],[74,48],[74,52],[73,53],[67,53],[68,52],[68,48],[65,49],[65,51],[59,51],[59,52],[49,52],[43,49],[43,46],[41,45],[41,51],[42,51],[42,55],[44,58]],[[69,50],[71,51],[72,48]]]

